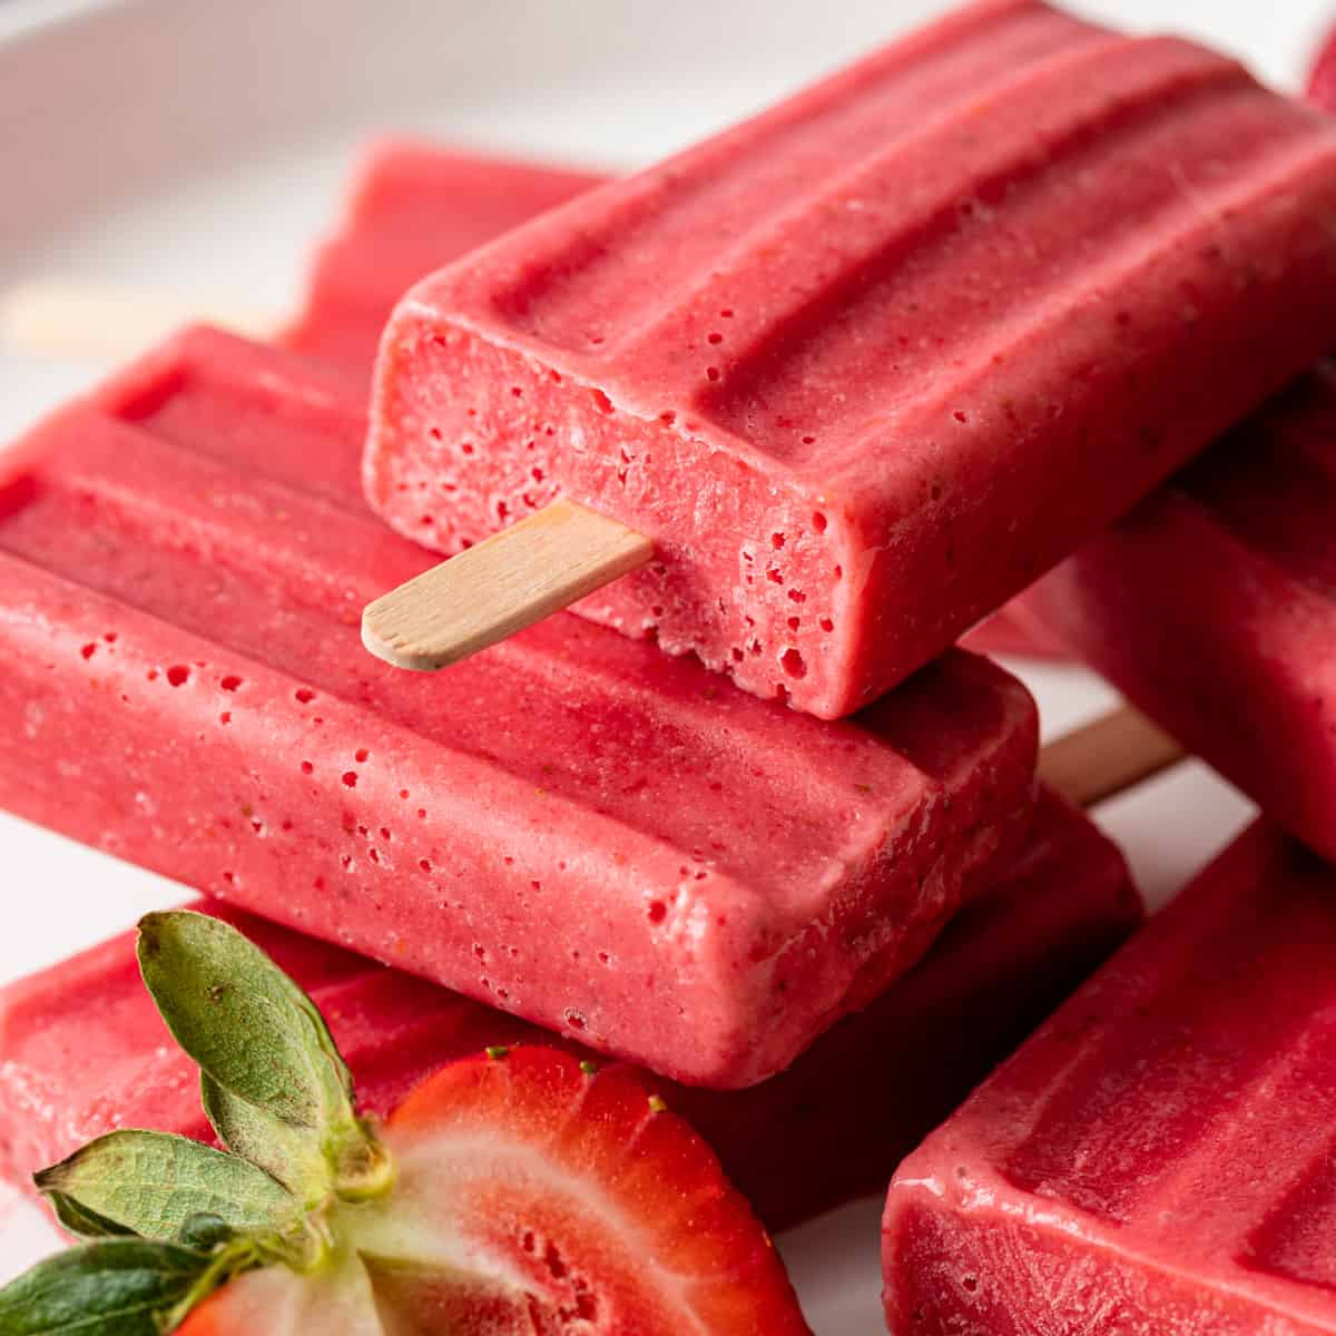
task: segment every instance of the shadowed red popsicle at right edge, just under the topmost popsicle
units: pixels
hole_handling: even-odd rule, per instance
[[[1336,859],[1336,367],[1013,609]]]

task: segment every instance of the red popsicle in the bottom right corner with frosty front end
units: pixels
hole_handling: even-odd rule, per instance
[[[1257,824],[896,1172],[891,1329],[1336,1332],[1333,953]]]

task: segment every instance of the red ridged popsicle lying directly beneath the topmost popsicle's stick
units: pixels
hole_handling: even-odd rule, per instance
[[[430,557],[367,514],[363,434],[346,378],[196,330],[7,456],[0,806],[724,1086],[1018,848],[1034,705],[966,653],[836,728],[576,617],[375,663],[362,604]]]

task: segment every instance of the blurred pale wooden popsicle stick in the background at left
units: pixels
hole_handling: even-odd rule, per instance
[[[200,321],[259,339],[282,323],[270,311],[230,302],[44,278],[0,295],[0,347],[28,357],[122,359]]]

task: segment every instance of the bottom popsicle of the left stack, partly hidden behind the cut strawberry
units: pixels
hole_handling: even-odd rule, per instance
[[[538,1038],[512,1015],[313,938],[224,914],[314,994],[383,1114],[442,1063]],[[661,1082],[772,1228],[882,1192],[939,1122],[1136,925],[1117,850],[1055,799],[1026,852],[879,1001],[751,1090]],[[0,1173],[23,1181],[116,1126],[210,1136],[190,1062],[167,1041],[116,938],[0,991]],[[800,1148],[800,1153],[799,1153]]]

